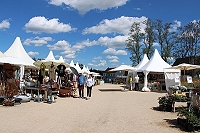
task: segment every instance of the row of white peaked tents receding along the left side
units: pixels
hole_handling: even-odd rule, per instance
[[[37,68],[41,63],[54,63],[56,65],[63,63],[67,67],[67,71],[70,71],[70,67],[74,67],[78,72],[83,72],[84,74],[93,74],[94,76],[99,76],[98,73],[92,73],[89,71],[88,67],[85,65],[83,66],[83,69],[80,68],[78,62],[74,64],[73,60],[70,62],[70,64],[67,64],[62,56],[58,60],[55,59],[53,52],[50,51],[47,57],[44,60],[41,61],[34,61],[28,53],[25,51],[20,37],[16,37],[13,44],[10,46],[10,48],[5,52],[0,52],[0,63],[10,63],[14,65],[20,66],[20,78],[22,79],[24,75],[24,69],[27,68]],[[47,63],[47,64],[48,64]]]

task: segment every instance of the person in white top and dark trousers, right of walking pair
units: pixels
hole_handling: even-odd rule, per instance
[[[87,85],[87,98],[86,100],[91,98],[92,95],[92,86],[94,85],[94,79],[92,77],[92,74],[89,74],[88,79],[86,80],[86,85]]]

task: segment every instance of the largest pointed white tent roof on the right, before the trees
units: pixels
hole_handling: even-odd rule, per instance
[[[166,63],[155,49],[151,59],[140,70],[148,72],[164,72],[164,68],[169,68],[171,65]]]

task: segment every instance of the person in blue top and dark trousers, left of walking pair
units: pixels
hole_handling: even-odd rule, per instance
[[[79,98],[84,98],[84,85],[85,85],[85,76],[82,72],[79,72],[78,77],[78,89],[79,89]]]

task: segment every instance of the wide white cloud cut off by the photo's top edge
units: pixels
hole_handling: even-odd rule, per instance
[[[77,9],[80,14],[94,9],[106,10],[109,8],[117,8],[125,5],[129,0],[49,0],[49,4]]]

